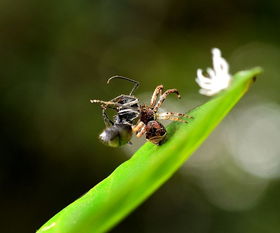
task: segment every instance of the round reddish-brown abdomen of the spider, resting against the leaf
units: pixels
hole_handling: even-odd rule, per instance
[[[150,121],[146,125],[146,139],[150,142],[160,145],[165,139],[166,129],[158,121]]]

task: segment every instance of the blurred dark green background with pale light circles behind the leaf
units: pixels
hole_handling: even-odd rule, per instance
[[[194,156],[111,232],[280,231],[280,2],[173,0],[0,1],[0,231],[35,232],[108,176],[143,141],[121,149],[90,98],[141,82],[178,88],[164,108],[186,110],[198,68],[218,47],[231,73],[262,66],[251,91]]]

